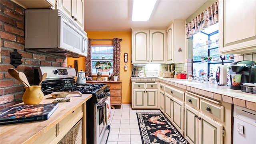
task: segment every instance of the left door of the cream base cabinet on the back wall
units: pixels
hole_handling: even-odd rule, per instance
[[[139,90],[133,90],[133,104],[132,108],[144,108],[145,107],[145,90],[139,89]]]

